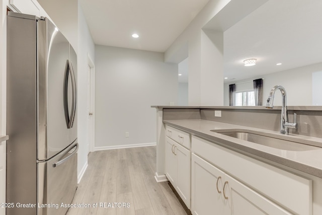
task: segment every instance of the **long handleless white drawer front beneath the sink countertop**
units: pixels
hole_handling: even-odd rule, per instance
[[[191,151],[296,214],[312,214],[312,180],[192,136]]]

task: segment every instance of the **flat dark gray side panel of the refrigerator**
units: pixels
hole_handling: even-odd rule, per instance
[[[7,17],[6,200],[15,204],[37,203],[36,19]],[[35,212],[36,208],[6,208],[8,215]]]

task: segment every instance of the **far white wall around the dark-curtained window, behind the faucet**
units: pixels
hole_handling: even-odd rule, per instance
[[[241,80],[235,83],[226,83],[224,84],[224,105],[229,105],[229,84],[236,84],[236,91],[253,89],[253,80],[264,78],[263,105],[266,104],[266,100],[272,87],[274,87],[275,85],[281,85],[286,90],[288,106],[310,106],[312,105],[312,73],[318,71],[322,71],[322,63],[315,63],[285,71],[279,71],[277,73]],[[319,85],[320,84],[321,83],[319,83]],[[282,105],[282,96],[280,92],[276,92],[274,98],[274,106],[280,105]]]

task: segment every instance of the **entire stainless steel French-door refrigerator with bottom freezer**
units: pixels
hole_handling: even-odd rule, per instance
[[[65,214],[77,187],[76,53],[47,18],[7,16],[10,214]],[[25,204],[25,205],[23,205]]]

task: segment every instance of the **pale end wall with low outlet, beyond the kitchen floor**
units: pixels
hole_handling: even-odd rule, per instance
[[[164,54],[95,46],[95,148],[155,143],[155,108],[178,97],[178,64]],[[129,137],[125,137],[129,132]]]

